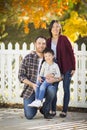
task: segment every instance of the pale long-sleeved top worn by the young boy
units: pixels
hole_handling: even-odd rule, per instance
[[[55,77],[60,77],[60,70],[58,65],[53,62],[53,64],[48,64],[46,61],[42,64],[40,76],[46,77],[47,74],[54,74]]]

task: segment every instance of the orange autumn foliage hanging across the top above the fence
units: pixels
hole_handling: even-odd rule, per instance
[[[69,9],[71,3],[79,0],[1,0],[1,22],[19,24],[24,22],[25,33],[28,24],[34,23],[35,28],[46,28],[46,23],[56,16],[62,16]]]

